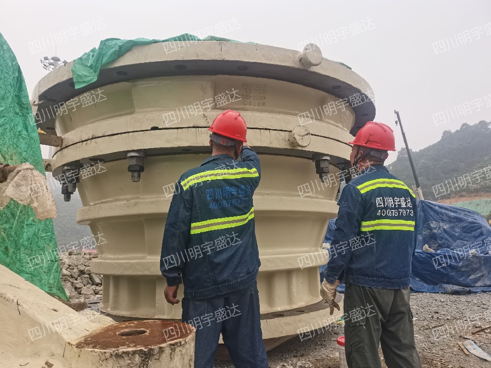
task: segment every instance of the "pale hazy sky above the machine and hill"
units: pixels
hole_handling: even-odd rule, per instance
[[[404,142],[394,109],[415,151],[435,143],[444,130],[491,120],[490,0],[1,0],[0,5],[0,32],[19,60],[29,94],[47,73],[39,59],[55,54],[56,38],[57,55],[70,61],[109,37],[164,39],[226,29],[222,37],[294,50],[310,40],[324,57],[351,66],[374,90],[375,120],[397,129],[398,150]],[[47,157],[47,150],[43,154]]]

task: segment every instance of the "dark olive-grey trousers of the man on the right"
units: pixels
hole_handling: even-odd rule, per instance
[[[349,368],[380,368],[379,343],[388,368],[420,368],[410,289],[377,289],[346,284],[345,351]]]

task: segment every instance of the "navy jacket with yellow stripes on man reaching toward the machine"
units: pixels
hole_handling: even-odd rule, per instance
[[[184,284],[184,297],[209,299],[251,287],[259,262],[252,196],[260,180],[257,154],[242,161],[207,158],[176,183],[160,268],[167,285]]]

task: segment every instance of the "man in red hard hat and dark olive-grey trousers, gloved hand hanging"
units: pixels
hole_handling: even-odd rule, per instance
[[[343,189],[321,295],[330,307],[345,281],[345,349],[350,368],[419,368],[409,307],[415,250],[416,199],[383,166],[395,151],[394,133],[368,122],[356,134],[351,164],[358,176]]]

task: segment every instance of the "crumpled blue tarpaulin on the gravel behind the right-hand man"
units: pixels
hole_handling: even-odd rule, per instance
[[[431,201],[418,201],[416,254],[411,289],[464,294],[491,291],[491,227],[479,213]],[[332,240],[329,221],[325,243]],[[428,245],[435,253],[423,251]],[[320,267],[321,281],[327,265]],[[344,285],[338,288],[344,290]]]

